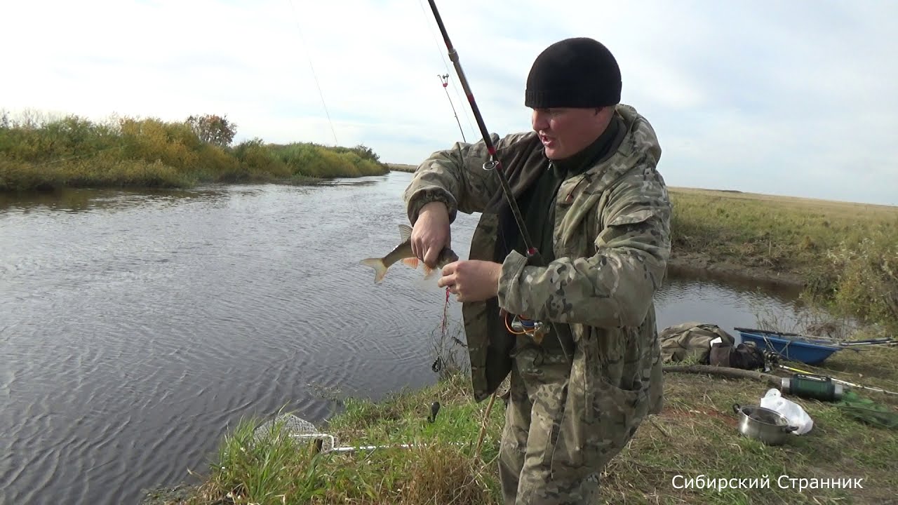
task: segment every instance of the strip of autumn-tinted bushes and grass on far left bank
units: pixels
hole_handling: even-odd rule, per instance
[[[203,182],[303,183],[389,172],[365,146],[236,146],[201,141],[187,121],[122,118],[0,121],[0,191],[189,187]]]

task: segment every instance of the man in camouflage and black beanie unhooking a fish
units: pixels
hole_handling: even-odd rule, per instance
[[[661,410],[652,297],[671,207],[655,132],[620,99],[612,53],[561,40],[527,77],[533,131],[493,136],[545,264],[529,264],[497,174],[483,169],[482,140],[431,155],[404,194],[412,249],[431,265],[456,213],[482,213],[470,260],[446,265],[438,285],[462,301],[474,398],[511,374],[499,457],[506,505],[596,502],[603,467]],[[539,342],[513,334],[514,315],[550,332]]]

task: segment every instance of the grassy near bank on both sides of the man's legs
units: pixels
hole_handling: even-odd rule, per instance
[[[841,353],[827,373],[898,390],[898,349]],[[848,370],[851,370],[850,372]],[[858,377],[863,376],[863,377]],[[278,436],[254,442],[261,420],[246,420],[225,436],[209,473],[179,493],[154,493],[145,504],[486,504],[499,505],[498,441],[504,404],[489,416],[481,457],[473,458],[487,402],[473,403],[466,375],[402,391],[379,403],[349,398],[325,430],[344,445],[418,444],[351,454],[316,453],[310,444]],[[757,404],[767,386],[703,375],[665,375],[665,409],[644,422],[603,474],[603,502],[754,504],[879,504],[898,499],[898,437],[867,426],[834,403],[792,398],[814,429],[781,447],[765,446],[737,431],[734,403]],[[860,392],[898,406],[898,396]],[[443,405],[436,421],[429,406]],[[687,479],[770,479],[768,489],[684,488]],[[780,488],[777,479],[784,488]],[[796,479],[863,479],[863,489],[803,489]],[[811,482],[811,481],[806,481]],[[797,481],[796,481],[797,483]],[[153,496],[151,493],[150,496]]]

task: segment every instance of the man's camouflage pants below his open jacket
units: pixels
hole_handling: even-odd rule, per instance
[[[588,346],[587,346],[588,347]],[[645,393],[601,377],[590,349],[515,351],[499,478],[506,505],[598,503],[599,474],[645,415]]]

